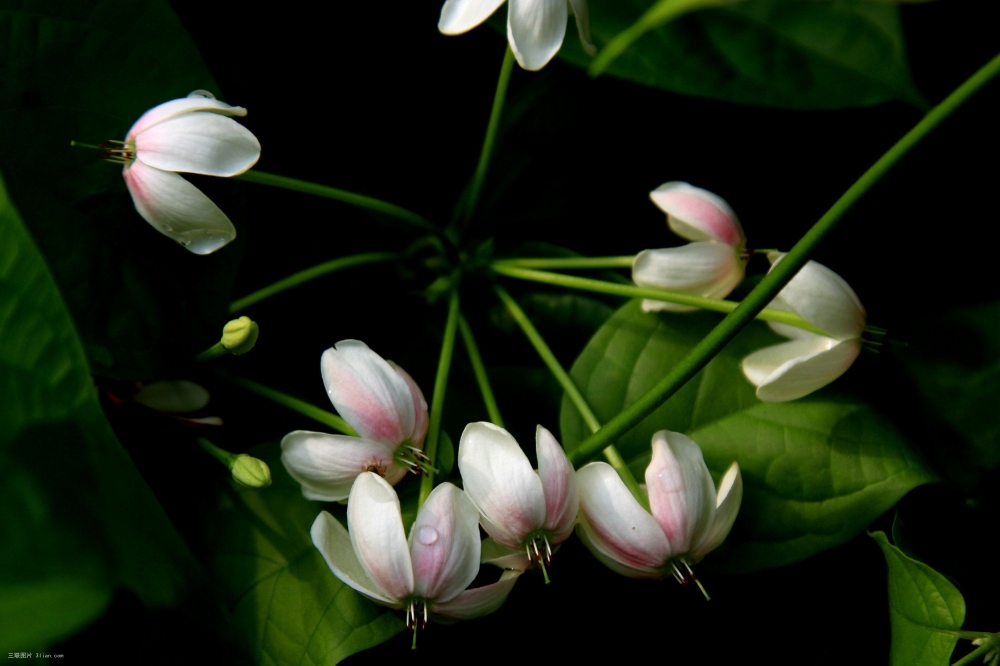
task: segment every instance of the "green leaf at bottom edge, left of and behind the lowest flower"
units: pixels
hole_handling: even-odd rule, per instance
[[[227,486],[207,522],[213,567],[255,663],[336,664],[404,628],[403,620],[342,583],[312,544],[319,512],[302,496],[277,443],[252,454],[271,468],[264,490]]]

